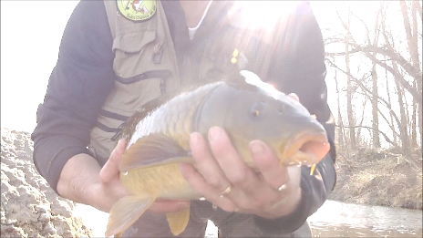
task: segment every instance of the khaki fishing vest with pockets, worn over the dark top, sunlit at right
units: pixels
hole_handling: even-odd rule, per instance
[[[131,2],[141,1],[128,1],[128,7],[134,7]],[[181,74],[161,2],[151,2],[155,2],[153,8],[150,6],[152,9],[146,11],[153,11],[154,15],[135,22],[122,16],[117,2],[104,1],[113,36],[116,79],[115,87],[98,114],[98,124],[90,131],[88,150],[101,166],[115,148],[125,121],[146,102],[195,81],[219,80],[222,74],[241,69],[264,77],[271,65],[271,57],[266,55],[278,50],[272,44],[274,38],[281,37],[273,35],[275,25],[253,26],[257,19],[245,16],[248,12],[241,15],[241,6],[230,1],[213,1],[202,23],[210,28],[210,37],[184,56],[184,71],[187,72]],[[277,17],[280,20],[281,16]],[[277,20],[269,22],[276,24]],[[196,70],[187,70],[190,64]]]

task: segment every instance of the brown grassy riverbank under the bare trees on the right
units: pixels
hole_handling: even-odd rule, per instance
[[[329,199],[395,208],[422,209],[422,154],[358,150],[338,156],[337,182]]]

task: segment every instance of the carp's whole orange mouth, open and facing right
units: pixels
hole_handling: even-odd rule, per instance
[[[281,146],[285,165],[314,165],[330,150],[325,132],[305,132]]]

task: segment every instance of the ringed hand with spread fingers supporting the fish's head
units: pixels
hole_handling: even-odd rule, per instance
[[[292,98],[299,100],[294,94]],[[277,218],[294,212],[301,200],[301,168],[280,164],[271,148],[254,140],[250,152],[257,168],[248,167],[223,129],[209,131],[210,150],[200,133],[191,134],[196,167],[181,164],[191,187],[227,212]]]

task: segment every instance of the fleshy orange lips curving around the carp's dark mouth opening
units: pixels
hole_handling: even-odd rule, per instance
[[[313,165],[318,161],[315,155],[304,152],[301,148],[305,143],[329,143],[325,131],[315,132],[307,131],[294,138],[287,143],[286,146],[281,146],[283,151],[283,163],[286,165]]]

